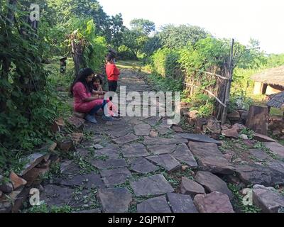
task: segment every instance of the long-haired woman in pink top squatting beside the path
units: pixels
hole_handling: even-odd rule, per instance
[[[92,96],[91,83],[94,77],[94,71],[86,68],[80,72],[77,79],[71,86],[71,94],[74,97],[74,110],[76,112],[85,113],[85,119],[92,123],[97,123],[94,115],[99,109],[104,110],[107,101],[104,101],[104,95]],[[102,116],[104,121],[117,121],[111,116]]]

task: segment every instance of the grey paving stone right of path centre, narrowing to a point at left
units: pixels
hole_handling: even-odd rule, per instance
[[[168,172],[173,172],[182,167],[180,162],[178,162],[172,155],[155,155],[146,158],[165,168],[165,170],[168,170]]]

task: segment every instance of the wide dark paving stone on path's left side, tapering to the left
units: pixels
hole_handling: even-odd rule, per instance
[[[59,184],[67,187],[80,187],[84,185],[87,189],[92,188],[104,188],[104,182],[102,182],[101,176],[98,174],[89,175],[76,175],[74,177],[67,177],[60,180]]]

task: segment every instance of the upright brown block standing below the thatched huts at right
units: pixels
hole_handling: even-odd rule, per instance
[[[246,120],[246,127],[262,135],[268,132],[268,107],[267,106],[250,106],[249,115]]]

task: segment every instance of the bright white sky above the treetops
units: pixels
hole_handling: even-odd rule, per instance
[[[109,15],[200,26],[219,38],[243,44],[256,38],[267,53],[284,53],[284,0],[99,0]]]

